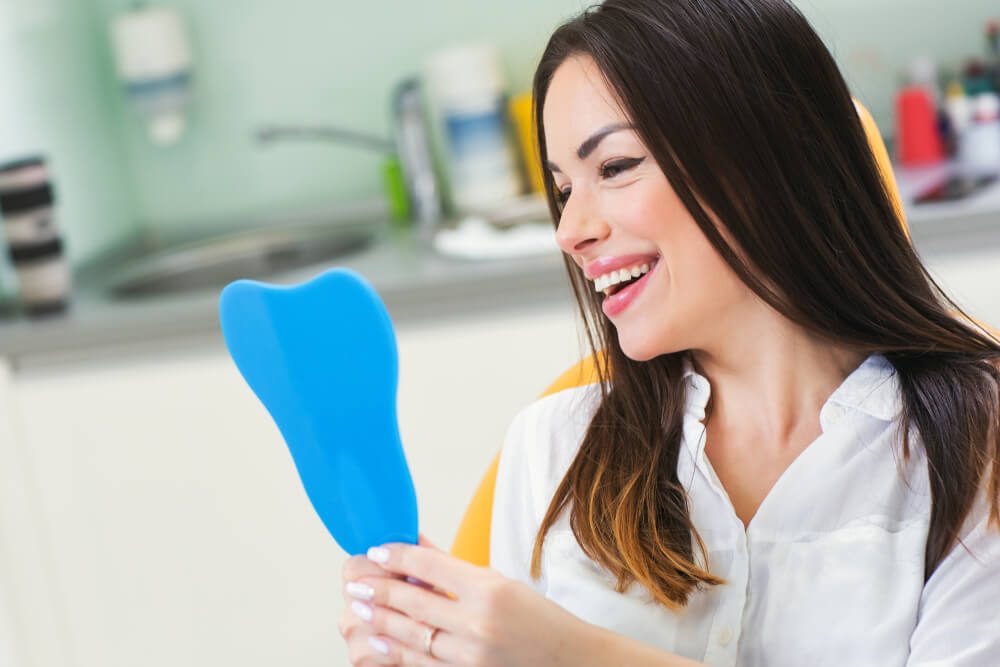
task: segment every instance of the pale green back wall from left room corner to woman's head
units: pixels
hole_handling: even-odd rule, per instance
[[[97,0],[102,18],[120,0]],[[137,214],[160,226],[236,219],[380,195],[373,152],[325,143],[262,148],[265,123],[333,123],[388,135],[389,92],[435,49],[496,42],[516,88],[578,0],[172,0],[196,42],[191,131],[167,149],[126,123]]]

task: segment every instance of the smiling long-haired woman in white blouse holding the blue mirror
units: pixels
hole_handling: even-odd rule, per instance
[[[534,93],[608,363],[511,426],[494,569],[348,563],[354,664],[1000,664],[1000,344],[921,266],[805,19],[608,0]]]

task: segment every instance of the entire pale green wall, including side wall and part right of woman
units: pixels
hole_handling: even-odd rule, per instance
[[[489,40],[525,89],[548,33],[580,0],[162,0],[189,20],[196,100],[182,141],[152,146],[124,108],[108,20],[125,0],[0,0],[0,159],[41,148],[75,260],[140,226],[240,221],[379,196],[380,158],[345,146],[255,145],[268,122],[385,134],[389,90],[434,50]],[[801,0],[856,94],[890,131],[898,72],[982,50],[993,0]],[[20,7],[16,9],[15,7]],[[26,9],[26,7],[29,7]],[[33,9],[31,9],[33,8]],[[9,19],[14,16],[16,20]]]

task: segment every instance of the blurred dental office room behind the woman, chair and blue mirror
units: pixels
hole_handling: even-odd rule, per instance
[[[366,275],[421,529],[581,355],[526,130],[578,0],[0,0],[0,665],[346,665],[342,553],[218,330]],[[995,2],[802,0],[914,243],[1000,324]]]

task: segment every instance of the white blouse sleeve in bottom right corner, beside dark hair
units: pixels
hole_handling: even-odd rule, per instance
[[[984,497],[962,532],[924,586],[907,667],[1000,665],[1000,530]]]

